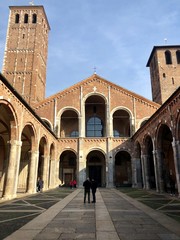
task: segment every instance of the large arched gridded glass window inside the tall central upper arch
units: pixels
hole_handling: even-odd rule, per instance
[[[102,137],[103,136],[103,125],[102,121],[98,117],[91,117],[87,121],[87,137]]]

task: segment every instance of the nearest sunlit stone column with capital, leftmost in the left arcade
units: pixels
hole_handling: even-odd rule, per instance
[[[4,190],[3,198],[12,199],[16,197],[17,191],[17,181],[19,171],[19,162],[20,162],[20,154],[18,146],[22,145],[21,141],[11,140],[10,144],[10,152],[9,152],[9,161],[7,167],[7,176],[6,176],[6,185]],[[18,168],[18,169],[17,169]]]

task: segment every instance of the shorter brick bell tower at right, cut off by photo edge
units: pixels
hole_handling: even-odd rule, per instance
[[[180,86],[180,45],[155,46],[149,57],[153,101],[163,104]]]

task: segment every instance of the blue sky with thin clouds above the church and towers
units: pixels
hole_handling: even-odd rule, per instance
[[[9,6],[31,0],[0,0],[0,69]],[[153,46],[179,45],[180,0],[35,0],[49,20],[46,96],[94,72],[151,97],[146,63]],[[167,39],[165,43],[164,39]]]

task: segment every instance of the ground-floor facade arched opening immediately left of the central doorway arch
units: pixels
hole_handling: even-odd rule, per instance
[[[59,179],[62,186],[70,186],[72,180],[77,181],[77,157],[73,151],[66,150],[60,156]]]

